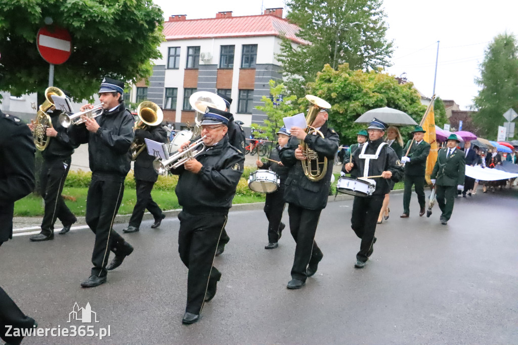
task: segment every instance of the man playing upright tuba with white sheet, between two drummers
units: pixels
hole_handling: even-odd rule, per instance
[[[286,286],[292,290],[304,286],[306,278],[315,274],[324,256],[314,238],[320,212],[327,205],[333,159],[339,145],[338,134],[328,127],[327,118],[327,109],[322,109],[312,124],[322,132],[324,138],[319,135],[307,135],[304,128],[292,127],[288,147],[280,152],[282,164],[290,169],[285,183],[284,200],[289,204],[290,231],[297,243],[291,270],[292,280]],[[327,171],[323,179],[311,181],[304,174],[300,161],[306,160],[306,157],[299,140],[307,143],[320,159],[327,157]]]

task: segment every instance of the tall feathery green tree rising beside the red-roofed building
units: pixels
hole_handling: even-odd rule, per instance
[[[309,44],[294,48],[284,39],[277,59],[282,63],[287,89],[299,98],[325,64],[348,63],[351,69],[390,66],[393,42],[381,0],[287,0],[287,19],[297,24],[297,36]]]

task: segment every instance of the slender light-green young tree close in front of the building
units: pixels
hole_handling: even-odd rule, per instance
[[[285,96],[286,88],[284,84],[277,84],[274,80],[270,80],[269,84],[271,97],[263,96],[261,101],[264,102],[264,106],[257,106],[256,108],[264,111],[268,116],[260,129],[267,133],[269,138],[275,138],[279,128],[284,126],[282,118],[297,114],[299,107],[295,95]]]

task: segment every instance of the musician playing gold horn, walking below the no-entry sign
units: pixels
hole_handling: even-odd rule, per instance
[[[39,179],[41,196],[45,202],[45,212],[41,222],[41,232],[29,237],[31,241],[54,239],[54,223],[58,218],[63,223],[60,235],[69,232],[72,224],[77,222],[76,216],[68,209],[61,196],[70,169],[71,156],[77,145],[73,145],[68,137],[67,129],[61,125],[60,114],[59,110],[49,113],[52,127],[47,128],[49,145],[41,152],[44,161]],[[31,131],[34,131],[33,124],[28,126]]]

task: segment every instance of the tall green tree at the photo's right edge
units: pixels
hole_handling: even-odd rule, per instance
[[[502,114],[509,108],[518,110],[518,47],[512,34],[496,36],[485,50],[480,64],[480,78],[475,82],[481,90],[474,97],[473,122],[484,137],[495,138],[498,126],[505,121]]]

